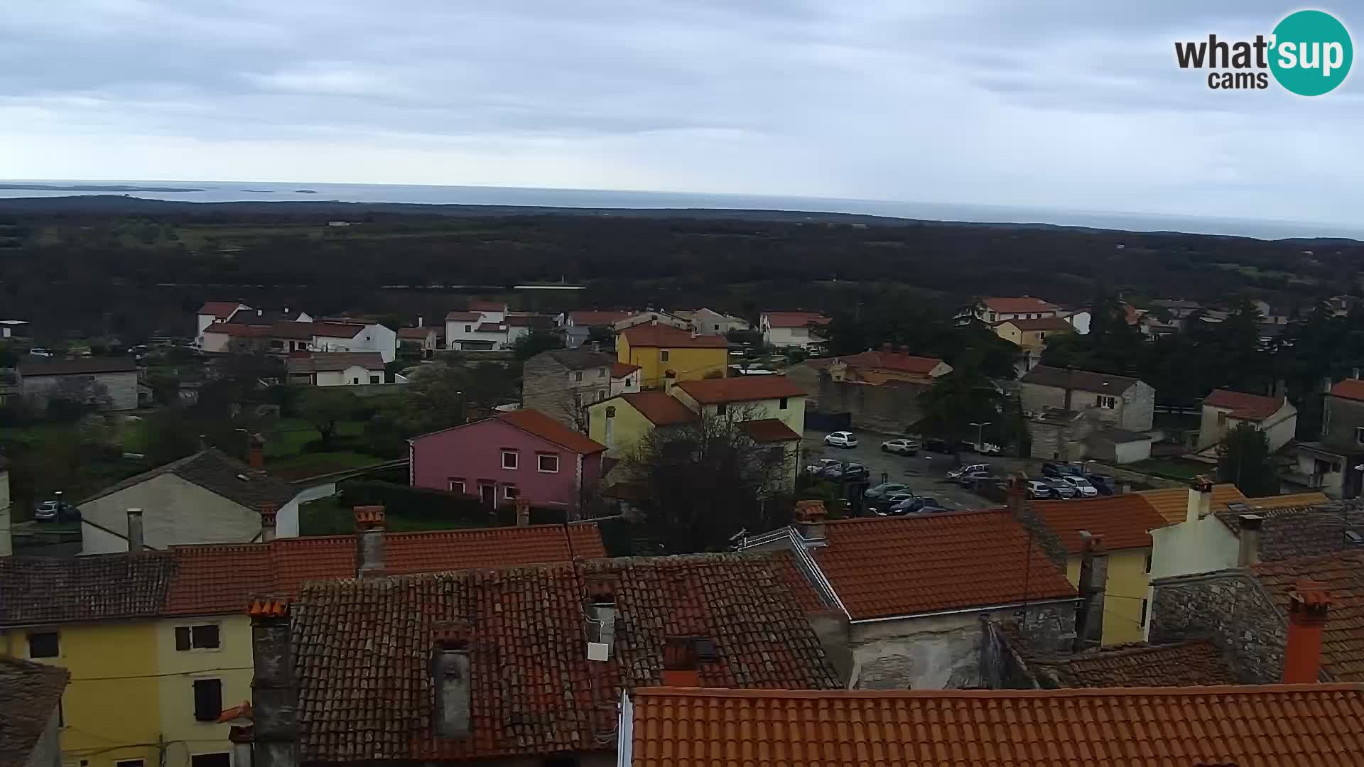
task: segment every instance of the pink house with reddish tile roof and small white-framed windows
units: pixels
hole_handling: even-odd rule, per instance
[[[529,408],[408,439],[413,487],[468,493],[490,506],[527,498],[577,510],[602,478],[604,452]]]

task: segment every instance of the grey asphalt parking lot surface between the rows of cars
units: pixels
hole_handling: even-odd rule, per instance
[[[947,482],[945,475],[956,468],[952,456],[941,456],[919,450],[918,456],[898,456],[883,453],[881,442],[889,437],[869,431],[858,433],[857,448],[833,448],[824,444],[822,431],[806,431],[801,446],[805,449],[805,464],[818,463],[820,459],[833,459],[837,461],[859,463],[872,472],[873,486],[881,482],[900,482],[908,484],[919,495],[932,495],[952,510],[985,509],[997,504],[990,502],[970,490]],[[1020,464],[1018,459],[982,457],[975,453],[962,453],[963,464],[988,463],[996,474],[1004,475],[1013,464]],[[883,476],[884,475],[884,476]]]

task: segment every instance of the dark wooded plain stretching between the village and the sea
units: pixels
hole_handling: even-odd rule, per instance
[[[1364,257],[1348,240],[741,213],[0,201],[0,300],[40,337],[184,334],[209,299],[434,318],[473,293],[559,280],[588,288],[503,295],[535,310],[705,304],[747,317],[887,300],[948,311],[983,293],[1086,304],[1099,289],[1311,306],[1357,292]]]

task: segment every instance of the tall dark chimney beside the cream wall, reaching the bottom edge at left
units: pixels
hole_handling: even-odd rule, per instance
[[[297,767],[299,689],[289,647],[289,603],[255,599],[251,617],[252,755],[254,767]]]

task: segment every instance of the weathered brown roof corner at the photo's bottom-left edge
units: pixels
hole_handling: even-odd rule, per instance
[[[0,655],[0,767],[50,764],[33,753],[57,712],[71,674],[65,669]]]

